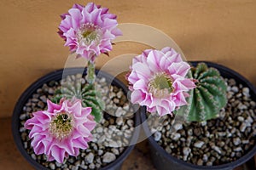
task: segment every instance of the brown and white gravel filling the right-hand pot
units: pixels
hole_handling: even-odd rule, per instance
[[[226,79],[228,104],[216,119],[177,124],[171,133],[172,116],[148,119],[154,140],[167,153],[195,165],[221,165],[236,161],[253,148],[256,140],[256,103],[249,88]]]

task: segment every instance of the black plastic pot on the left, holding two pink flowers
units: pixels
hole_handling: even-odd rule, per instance
[[[15,144],[20,150],[20,153],[22,156],[26,158],[26,161],[28,161],[33,167],[36,169],[47,169],[43,165],[39,164],[38,161],[35,161],[32,159],[30,155],[26,152],[21,138],[20,138],[20,113],[22,111],[23,106],[26,104],[27,100],[31,98],[32,94],[36,92],[38,88],[41,88],[45,82],[50,81],[59,81],[62,77],[66,77],[67,75],[73,75],[76,73],[83,73],[86,74],[86,69],[84,68],[67,68],[65,70],[59,70],[59,71],[53,71],[49,73],[48,75],[41,77],[38,79],[38,81],[32,83],[32,85],[26,89],[26,91],[21,94],[20,99],[17,101],[15,105],[15,110],[13,112],[12,117],[12,133],[15,139]],[[123,92],[127,94],[128,88],[125,86],[123,82],[120,82],[118,79],[114,78],[113,76],[109,75],[108,73],[104,71],[98,71],[96,70],[96,77],[105,77],[106,81],[108,83],[111,83],[113,86],[116,86],[118,88],[122,88]],[[137,127],[140,124],[140,116],[138,115],[140,111],[137,111],[134,116],[135,121],[135,127]],[[134,145],[137,143],[137,138],[139,135],[139,128],[135,128],[134,133],[132,134],[131,140],[130,140],[130,146],[127,146],[127,148],[123,151],[123,153],[112,163],[108,164],[106,167],[102,167],[102,170],[117,170],[122,167],[123,161],[125,161],[125,158],[131,153],[131,150],[134,148]]]

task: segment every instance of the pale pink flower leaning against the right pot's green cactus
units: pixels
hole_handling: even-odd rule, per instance
[[[148,49],[132,60],[130,83],[131,103],[146,105],[147,111],[160,116],[171,114],[186,105],[189,89],[195,83],[186,78],[190,69],[173,48]]]

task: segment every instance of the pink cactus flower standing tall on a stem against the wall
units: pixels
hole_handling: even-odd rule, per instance
[[[92,61],[99,54],[108,54],[112,50],[111,41],[122,34],[117,28],[116,15],[95,3],[85,7],[74,4],[61,19],[58,33],[66,41],[65,46],[78,57]]]

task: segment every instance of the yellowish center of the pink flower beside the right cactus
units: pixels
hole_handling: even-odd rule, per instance
[[[148,83],[148,91],[156,98],[166,98],[174,91],[172,77],[165,72],[157,73]]]

